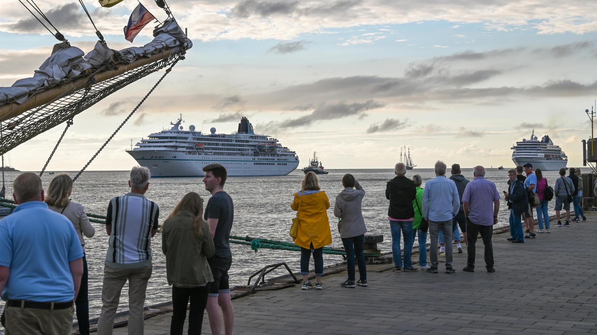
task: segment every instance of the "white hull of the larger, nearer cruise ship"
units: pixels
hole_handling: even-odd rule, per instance
[[[217,156],[149,150],[127,150],[127,153],[140,166],[149,168],[152,178],[201,177],[205,176],[203,167],[213,163],[223,165],[229,176],[282,176],[298,168],[298,160],[281,161],[275,157]]]

